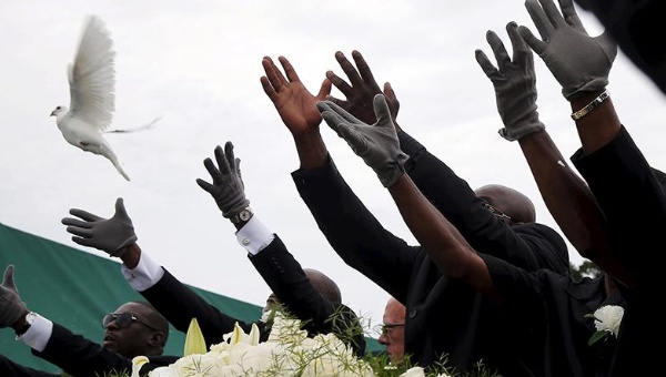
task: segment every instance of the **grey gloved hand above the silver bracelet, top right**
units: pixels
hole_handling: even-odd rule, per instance
[[[543,41],[526,27],[518,32],[544,60],[562,85],[562,94],[575,100],[582,92],[595,92],[608,85],[608,73],[617,55],[617,43],[605,31],[587,34],[572,0],[559,0],[562,14],[553,0],[526,0],[525,7]],[[543,8],[542,8],[543,7]]]

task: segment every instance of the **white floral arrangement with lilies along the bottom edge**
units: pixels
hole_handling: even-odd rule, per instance
[[[224,336],[224,342],[205,350],[196,319],[192,320],[185,338],[184,357],[149,373],[149,377],[376,377],[371,364],[354,355],[352,348],[333,334],[307,337],[297,319],[276,316],[269,339],[259,342],[259,328],[250,334],[238,325]],[[132,377],[139,377],[144,356],[133,360]],[[389,369],[389,368],[386,368]],[[400,376],[425,377],[421,367],[411,367]],[[435,375],[433,375],[435,376]],[[450,377],[438,374],[437,377]]]

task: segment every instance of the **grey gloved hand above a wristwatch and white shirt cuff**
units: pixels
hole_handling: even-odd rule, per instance
[[[196,183],[213,196],[218,207],[222,211],[222,216],[230,218],[250,205],[250,201],[245,198],[245,187],[241,179],[241,159],[234,157],[231,142],[224,144],[224,152],[218,145],[214,153],[220,169],[211,159],[203,160],[203,165],[211,174],[213,184],[201,179],[196,179]]]

